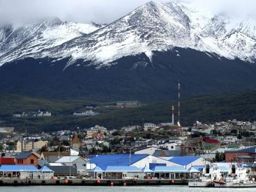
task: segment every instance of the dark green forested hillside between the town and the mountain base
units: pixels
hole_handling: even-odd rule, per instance
[[[100,115],[84,117],[73,116],[90,104],[100,106]],[[97,103],[89,100],[50,100],[25,97],[12,93],[0,94],[0,126],[13,126],[17,131],[29,132],[56,131],[92,127],[96,124],[108,129],[120,129],[127,125],[142,125],[143,122],[171,121],[171,105],[175,106],[177,118],[177,101],[142,104],[139,108],[109,108],[113,103]],[[51,111],[51,117],[13,117],[14,113],[23,111]],[[256,91],[241,93],[222,93],[204,95],[182,100],[181,124],[191,125],[196,120],[216,122],[220,120],[256,120]]]

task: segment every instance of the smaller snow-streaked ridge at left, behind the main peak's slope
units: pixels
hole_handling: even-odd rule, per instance
[[[62,22],[58,18],[26,24],[19,28],[3,26],[0,28],[0,58],[12,61],[28,55],[33,56],[44,49],[52,49],[99,28],[102,28],[100,24]]]

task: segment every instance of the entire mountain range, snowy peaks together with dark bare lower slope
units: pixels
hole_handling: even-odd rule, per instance
[[[149,2],[101,26],[53,18],[0,29],[0,90],[163,100],[256,88],[255,18]]]

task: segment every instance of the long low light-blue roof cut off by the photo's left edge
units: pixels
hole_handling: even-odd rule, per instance
[[[33,165],[8,165],[3,164],[0,167],[0,172],[40,172]]]

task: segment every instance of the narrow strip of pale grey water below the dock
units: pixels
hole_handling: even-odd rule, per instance
[[[255,188],[247,189],[225,189],[225,188],[188,188],[187,186],[114,186],[114,187],[101,187],[101,186],[23,186],[23,187],[0,187],[1,192],[207,192],[207,191],[216,191],[216,192],[230,192],[230,191],[256,191]]]

